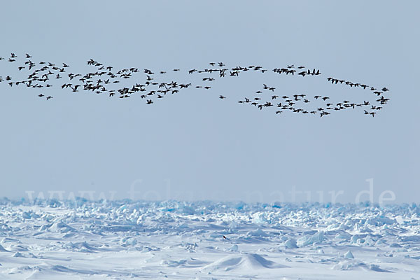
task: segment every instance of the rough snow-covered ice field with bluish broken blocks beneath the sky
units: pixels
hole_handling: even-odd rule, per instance
[[[0,279],[420,279],[415,204],[3,200],[0,209]]]

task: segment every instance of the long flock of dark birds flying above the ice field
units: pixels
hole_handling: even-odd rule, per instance
[[[118,96],[121,99],[129,98],[132,94],[139,94],[141,99],[146,100],[146,104],[153,104],[156,99],[162,99],[167,94],[179,94],[181,90],[187,89],[188,87],[195,87],[197,90],[211,89],[211,82],[216,80],[216,78],[224,78],[226,76],[239,76],[239,74],[247,71],[258,71],[260,73],[265,73],[267,69],[263,69],[262,66],[235,66],[231,69],[226,68],[225,64],[222,62],[211,62],[209,63],[209,68],[207,69],[190,69],[188,74],[202,73],[206,77],[202,78],[201,81],[204,85],[193,85],[192,83],[178,83],[176,81],[171,82],[158,82],[158,78],[165,78],[166,71],[157,71],[154,73],[150,69],[144,69],[139,71],[137,68],[128,68],[120,69],[118,71],[113,70],[113,66],[105,66],[102,63],[90,59],[87,61],[87,64],[94,67],[94,71],[89,73],[70,73],[68,70],[69,65],[66,63],[62,64],[53,64],[52,62],[32,62],[32,57],[29,54],[26,54],[24,57],[25,63],[18,65],[18,71],[28,71],[28,75],[21,80],[13,79],[11,76],[2,77],[0,76],[0,83],[6,82],[10,87],[15,86],[26,86],[40,90],[44,87],[57,87],[57,85],[52,85],[53,80],[62,81],[59,87],[66,90],[71,90],[72,92],[78,92],[80,90],[85,90],[87,92],[94,92],[96,94],[108,94],[109,97]],[[10,64],[18,63],[18,56],[12,53],[8,59],[0,57],[0,66],[1,62],[8,62]],[[211,66],[211,67],[210,67]],[[1,68],[0,68],[1,69]],[[178,72],[180,69],[173,69],[172,71]],[[293,64],[288,65],[283,68],[275,68],[272,70],[274,73],[279,75],[290,75],[290,76],[319,76],[321,71],[319,69],[306,69],[305,66],[295,67]],[[118,83],[123,80],[129,80],[133,78],[136,73],[144,73],[145,80],[143,83],[135,83],[126,86],[118,86]],[[284,111],[291,111],[294,113],[302,114],[314,114],[317,116],[327,116],[332,113],[332,111],[340,111],[344,109],[355,109],[356,107],[362,107],[365,115],[372,116],[383,108],[383,105],[386,104],[389,98],[384,97],[385,93],[388,93],[388,88],[386,87],[373,87],[364,83],[351,82],[349,80],[342,80],[338,78],[329,77],[326,80],[332,83],[333,85],[346,85],[353,88],[360,88],[363,90],[368,90],[372,94],[375,94],[374,102],[372,104],[370,101],[363,102],[350,102],[348,100],[343,100],[342,102],[329,102],[328,96],[314,95],[314,99],[322,101],[321,106],[315,106],[313,109],[305,109],[302,104],[314,103],[315,100],[309,97],[307,94],[287,94],[287,95],[276,95],[275,87],[262,84],[260,90],[257,90],[255,97],[245,97],[243,100],[239,100],[239,104],[250,104],[255,106],[255,108],[262,110],[268,109],[269,107],[275,107],[275,113],[280,114]],[[262,94],[268,92],[268,101],[262,101],[262,97],[265,97],[267,94]],[[48,94],[47,94],[48,95]],[[46,100],[52,99],[52,95],[45,96],[43,93],[38,92],[38,97],[45,97]],[[226,99],[227,97],[219,95],[220,99]]]

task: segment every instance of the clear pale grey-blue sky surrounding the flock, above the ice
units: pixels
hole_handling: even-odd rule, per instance
[[[73,73],[90,71],[90,58],[115,69],[179,68],[170,73],[179,83],[199,83],[187,71],[209,62],[322,75],[226,78],[153,106],[54,87],[46,102],[43,90],[0,83],[0,196],[419,202],[419,9],[418,1],[5,1],[1,57],[29,53]],[[0,64],[0,76],[10,71]],[[237,103],[262,83],[279,95],[365,98],[330,76],[386,86],[391,100],[374,118],[276,116]]]

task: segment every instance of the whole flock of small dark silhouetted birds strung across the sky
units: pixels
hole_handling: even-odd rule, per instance
[[[79,90],[83,90],[85,92],[92,92],[94,94],[107,94],[109,97],[113,97],[118,94],[120,99],[127,99],[129,97],[135,97],[137,94],[139,95],[140,99],[146,99],[146,104],[153,104],[158,99],[162,99],[166,96],[167,93],[171,94],[178,94],[182,92],[187,92],[187,88],[192,85],[193,89],[196,92],[199,92],[201,88],[205,90],[209,90],[211,92],[211,87],[207,85],[200,85],[193,83],[179,83],[177,81],[172,80],[169,82],[171,78],[170,75],[172,72],[167,72],[165,69],[159,69],[156,73],[162,74],[162,76],[155,76],[153,71],[150,69],[144,69],[145,76],[139,76],[137,74],[139,69],[136,67],[132,68],[125,68],[114,70],[113,66],[106,66],[106,64],[102,64],[100,62],[95,61],[94,59],[89,59],[87,61],[87,65],[92,67],[91,71],[87,71],[86,73],[76,73],[70,71],[71,69],[69,64],[62,63],[62,64],[55,64],[52,62],[45,62],[41,61],[38,64],[31,61],[32,56],[28,53],[22,55],[25,62],[20,64],[19,55],[15,55],[15,53],[11,53],[10,57],[8,57],[8,62],[14,62],[10,64],[10,66],[16,66],[16,69],[22,73],[22,77],[19,78],[12,78],[10,75],[2,78],[0,76],[0,83],[3,80],[7,81],[7,85],[10,87],[29,87],[29,88],[62,88],[67,89],[71,88],[73,92],[78,92]],[[0,57],[0,60],[3,60],[3,57]],[[60,66],[62,65],[62,66]],[[260,73],[264,73],[267,75],[267,69],[264,69],[262,66],[259,65],[250,65],[250,66],[234,66],[234,67],[227,67],[223,62],[210,62],[209,66],[204,67],[197,67],[190,69],[186,72],[191,74],[192,76],[196,76],[197,78],[192,78],[193,80],[197,81],[200,80],[204,83],[216,83],[218,78],[227,78],[227,77],[237,77],[239,74],[244,75],[248,80],[251,80],[252,76],[250,73],[255,73],[258,71]],[[297,66],[295,68],[294,64],[288,64],[286,66],[277,66],[273,69],[273,72],[276,74],[282,74],[289,77],[293,76],[294,73],[299,69],[299,75],[302,77],[305,76],[321,76],[321,70],[312,68],[312,69],[305,69],[305,66]],[[25,71],[25,69],[29,69]],[[252,70],[252,71],[251,71]],[[179,72],[181,69],[175,68],[173,69],[174,72]],[[230,73],[230,75],[226,75],[226,73]],[[164,75],[165,74],[165,75]],[[178,74],[177,74],[178,75]],[[166,77],[165,80],[162,77]],[[266,77],[266,76],[265,76]],[[269,76],[268,76],[269,77]],[[60,85],[57,85],[54,80],[63,80]],[[134,84],[130,83],[130,79],[134,80]],[[305,78],[306,79],[306,78]],[[339,102],[335,94],[330,95],[329,97],[325,96],[322,97],[321,95],[317,94],[314,95],[314,99],[323,99],[325,102],[327,99],[328,103],[326,103],[326,107],[322,108],[319,107],[316,109],[316,105],[312,105],[316,102],[312,102],[314,99],[311,99],[307,96],[307,94],[284,94],[282,95],[282,100],[278,104],[276,104],[276,110],[270,109],[270,107],[274,106],[269,101],[279,98],[279,95],[267,95],[265,96],[262,94],[263,90],[271,90],[274,92],[276,87],[268,86],[267,84],[262,84],[262,90],[255,91],[259,97],[245,97],[244,100],[239,100],[238,103],[240,104],[251,104],[258,109],[262,110],[273,110],[276,114],[285,113],[285,112],[293,112],[298,114],[311,114],[319,115],[321,117],[328,116],[331,113],[335,113],[338,111],[344,111],[346,109],[357,109],[358,107],[363,107],[366,109],[366,106],[370,106],[369,111],[365,111],[365,114],[371,115],[374,117],[376,113],[378,113],[381,109],[384,108],[384,105],[390,100],[388,98],[388,88],[387,87],[378,87],[381,90],[377,90],[376,87],[372,85],[367,85],[367,83],[360,83],[351,80],[345,80],[342,78],[334,78],[328,77],[327,78],[328,84],[334,86],[342,86],[342,87],[349,87],[353,90],[365,90],[366,93],[372,92],[372,94],[376,97],[365,97],[365,100],[357,101],[356,97],[353,95],[349,95],[347,100]],[[272,82],[270,82],[272,83]],[[275,85],[276,86],[276,85]],[[251,92],[252,93],[252,92]],[[316,93],[316,92],[315,92]],[[309,95],[309,94],[308,94]],[[289,96],[293,98],[289,98]],[[356,96],[356,95],[355,95]],[[38,97],[44,97],[44,94],[38,94]],[[379,98],[380,97],[380,98]],[[48,99],[52,99],[52,95],[46,97]],[[226,96],[219,95],[220,99],[225,99]],[[267,99],[269,101],[267,101]],[[251,102],[252,100],[252,102]],[[335,105],[334,105],[335,104]]]

